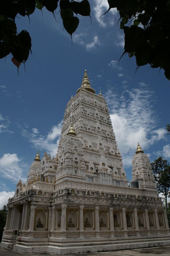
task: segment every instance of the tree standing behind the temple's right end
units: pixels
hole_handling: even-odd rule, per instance
[[[152,171],[156,180],[158,193],[162,193],[168,209],[167,198],[170,197],[170,164],[163,157],[158,157],[152,163]]]

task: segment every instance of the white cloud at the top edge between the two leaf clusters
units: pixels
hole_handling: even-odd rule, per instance
[[[93,11],[95,18],[100,26],[106,27],[106,25],[114,25],[114,16],[117,15],[117,9],[112,8],[108,13],[102,16],[109,8],[106,0],[95,0]],[[102,17],[101,17],[102,16]],[[100,18],[101,17],[101,18]]]

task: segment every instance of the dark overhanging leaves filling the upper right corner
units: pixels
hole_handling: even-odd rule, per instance
[[[108,0],[117,8],[124,29],[124,53],[135,56],[137,68],[146,64],[165,70],[170,80],[170,0]]]

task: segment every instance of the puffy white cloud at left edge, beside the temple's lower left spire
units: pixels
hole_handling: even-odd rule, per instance
[[[0,158],[0,174],[2,177],[12,180],[14,183],[20,179],[26,180],[24,170],[28,169],[27,164],[18,158],[18,155],[7,153]],[[26,173],[27,174],[27,173]]]

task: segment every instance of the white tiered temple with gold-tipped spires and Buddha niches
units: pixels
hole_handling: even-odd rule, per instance
[[[170,229],[149,158],[137,146],[126,180],[107,103],[86,70],[71,97],[57,155],[39,152],[9,198],[0,246],[75,254],[169,245]]]

